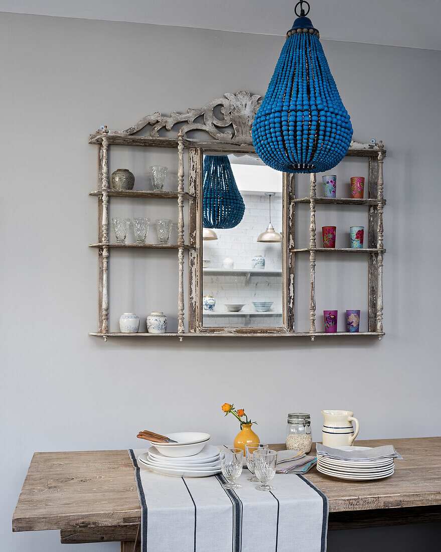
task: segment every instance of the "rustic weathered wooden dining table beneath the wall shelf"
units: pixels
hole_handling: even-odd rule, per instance
[[[357,441],[365,447],[385,444],[393,444],[403,457],[386,479],[343,481],[316,468],[306,474],[329,499],[328,529],[441,521],[441,437]],[[284,444],[270,446],[285,449]],[[139,550],[140,519],[127,450],[38,452],[31,460],[12,530],[56,529],[62,543],[116,541],[121,552],[132,552]]]

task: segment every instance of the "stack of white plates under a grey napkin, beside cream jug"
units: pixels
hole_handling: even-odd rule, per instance
[[[343,447],[336,447],[343,448]],[[370,447],[351,447],[353,450],[364,450]],[[345,450],[350,450],[345,448]],[[325,456],[317,456],[317,470],[322,474],[346,479],[348,481],[370,481],[384,479],[394,473],[394,459],[379,460],[337,460]]]

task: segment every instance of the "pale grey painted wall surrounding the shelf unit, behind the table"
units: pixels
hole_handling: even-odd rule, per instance
[[[376,137],[388,150],[383,341],[103,343],[88,336],[97,304],[96,252],[87,247],[97,231],[96,200],[87,196],[95,188],[97,162],[89,132],[100,124],[126,128],[155,110],[199,107],[227,91],[264,93],[282,43],[273,36],[1,14],[4,550],[65,549],[55,532],[10,533],[36,450],[134,447],[144,427],[200,428],[215,443],[225,442],[238,429],[222,417],[226,401],[246,407],[269,442],[283,440],[290,411],[311,412],[320,439],[320,410],[329,407],[353,409],[360,438],[440,433],[435,332],[441,263],[433,251],[439,235],[440,52],[324,44],[355,139]],[[172,261],[167,266],[174,267]],[[113,293],[118,282],[131,285],[123,264],[116,265]],[[169,290],[153,281],[147,284],[167,301]],[[112,310],[111,318],[119,314]],[[155,391],[160,388],[168,391]],[[413,538],[426,539],[426,550],[433,550],[436,530],[361,536],[373,539],[369,549],[389,550],[399,535],[401,550],[415,549]],[[353,550],[353,538],[330,535],[330,550]],[[378,539],[385,539],[384,548]],[[94,549],[117,548],[75,550]]]

